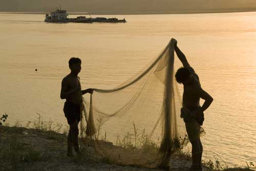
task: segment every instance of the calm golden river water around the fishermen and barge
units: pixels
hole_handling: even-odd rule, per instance
[[[0,114],[11,123],[40,113],[66,124],[59,92],[70,57],[82,59],[84,89],[108,89],[175,37],[215,99],[205,112],[204,149],[228,164],[256,162],[256,13],[115,17],[128,22],[49,24],[44,15],[0,13]]]

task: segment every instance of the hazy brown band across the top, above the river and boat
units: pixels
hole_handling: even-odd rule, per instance
[[[90,13],[190,13],[256,10],[255,0],[0,0],[0,11]]]

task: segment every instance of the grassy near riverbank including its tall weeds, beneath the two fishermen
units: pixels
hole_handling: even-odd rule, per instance
[[[120,156],[124,153],[131,158],[136,157],[137,153],[134,152],[138,152],[138,147],[142,145],[138,140],[137,145],[131,143],[134,136],[143,135],[136,131],[136,127],[135,133],[129,133],[126,140],[117,141],[118,146],[103,140],[98,141],[97,144],[106,149],[104,153],[95,150],[95,141],[89,138],[79,139],[82,155],[72,158],[66,157],[67,131],[66,125],[51,120],[43,121],[39,114],[38,120],[34,122],[22,124],[17,121],[13,125],[4,123],[4,126],[0,126],[0,170],[158,170],[131,164],[128,158],[126,163],[121,160]],[[155,153],[157,145],[151,143],[148,152]],[[108,151],[115,155],[109,155]],[[229,168],[219,159],[205,160],[203,163],[204,170],[231,171],[255,168],[253,163],[247,163],[246,168]],[[182,151],[177,151],[170,161],[172,170],[188,170],[190,164],[190,153]]]

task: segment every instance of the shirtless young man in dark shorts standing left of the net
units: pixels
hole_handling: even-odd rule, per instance
[[[69,60],[70,74],[62,79],[60,98],[66,99],[63,111],[70,125],[68,135],[68,154],[71,157],[73,146],[77,154],[80,154],[78,145],[78,123],[80,121],[81,101],[83,94],[93,93],[93,89],[81,90],[80,78],[81,59],[72,57]]]

